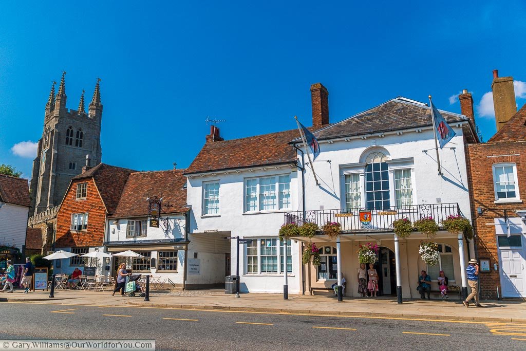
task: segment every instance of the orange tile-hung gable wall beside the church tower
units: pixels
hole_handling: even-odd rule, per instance
[[[77,200],[77,184],[88,183],[86,199]],[[72,214],[88,213],[87,230],[70,230]],[[57,213],[55,247],[102,246],[106,208],[93,178],[74,180]]]

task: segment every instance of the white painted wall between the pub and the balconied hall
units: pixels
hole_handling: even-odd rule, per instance
[[[273,212],[244,213],[245,207],[245,179],[261,176],[290,175],[291,209],[301,209],[298,200],[298,175],[295,167],[280,166],[261,167],[253,169],[239,169],[239,172],[218,172],[204,176],[191,176],[187,182],[187,203],[192,206],[190,216],[190,233],[206,233],[212,231],[227,232],[223,236],[240,236],[241,238],[277,238],[279,228],[284,223],[285,212],[290,210],[276,210]],[[214,216],[203,215],[203,183],[219,180],[219,214]],[[230,234],[228,234],[230,232]],[[210,233],[210,235],[214,235]],[[191,234],[190,234],[191,239]],[[231,274],[236,274],[236,240],[231,240]],[[300,246],[292,242],[292,274],[289,274],[289,290],[291,294],[300,292]],[[244,260],[245,245],[240,245],[239,271],[241,275],[242,292],[282,293],[283,276],[278,274],[246,274]],[[193,257],[193,256],[189,256]],[[225,256],[217,257],[222,260],[220,266],[222,279],[224,279]],[[202,263],[201,263],[202,264]],[[219,263],[218,263],[219,264]],[[219,267],[219,266],[218,266]],[[204,269],[201,269],[204,270]],[[219,272],[218,272],[219,274]],[[190,278],[190,276],[189,276]]]

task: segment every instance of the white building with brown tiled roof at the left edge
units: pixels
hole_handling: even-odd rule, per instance
[[[24,253],[29,204],[27,179],[0,174],[0,246]],[[0,257],[15,258],[6,250]]]

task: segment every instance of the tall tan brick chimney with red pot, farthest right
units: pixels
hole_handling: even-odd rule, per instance
[[[508,122],[516,112],[515,90],[513,89],[513,77],[499,77],[499,71],[493,70],[493,106],[495,107],[495,122],[497,131]]]

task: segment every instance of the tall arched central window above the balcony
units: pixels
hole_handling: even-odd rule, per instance
[[[365,195],[369,209],[388,209],[390,206],[387,160],[381,151],[373,151],[365,159]]]

